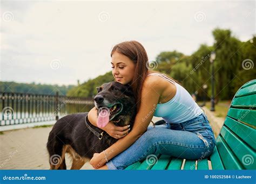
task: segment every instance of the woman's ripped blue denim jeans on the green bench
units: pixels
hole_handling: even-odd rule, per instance
[[[163,123],[165,123],[164,120]],[[212,154],[215,138],[206,115],[179,124],[150,125],[129,148],[106,163],[108,169],[125,169],[151,154],[197,160]]]

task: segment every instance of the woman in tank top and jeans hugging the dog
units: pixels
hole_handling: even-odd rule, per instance
[[[125,41],[111,52],[112,74],[117,82],[130,84],[137,100],[132,130],[109,122],[103,130],[116,143],[95,153],[90,164],[98,169],[124,169],[150,154],[177,158],[208,157],[215,146],[211,126],[191,95],[164,74],[148,70],[147,54],[137,41]],[[153,116],[163,117],[164,125],[149,126]],[[89,112],[97,126],[97,109]]]

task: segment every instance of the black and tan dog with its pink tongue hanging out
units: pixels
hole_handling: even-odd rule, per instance
[[[132,128],[136,102],[131,87],[109,82],[97,87],[97,90],[97,126],[103,127],[111,121],[117,126],[130,124]],[[71,155],[71,169],[80,169],[93,153],[100,153],[117,141],[98,127],[89,122],[87,112],[60,118],[53,126],[47,143],[50,169],[66,169],[65,153]]]

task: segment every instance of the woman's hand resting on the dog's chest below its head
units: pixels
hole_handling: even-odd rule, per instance
[[[104,127],[104,130],[107,132],[108,135],[115,139],[123,138],[127,135],[127,133],[130,131],[130,125],[127,126],[116,126],[114,123],[109,122]]]

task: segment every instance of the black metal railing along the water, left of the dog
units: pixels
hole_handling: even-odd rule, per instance
[[[0,92],[0,126],[58,120],[76,112],[88,112],[93,98]]]

